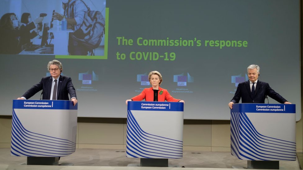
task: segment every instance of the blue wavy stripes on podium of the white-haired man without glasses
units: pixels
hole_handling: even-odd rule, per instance
[[[243,160],[296,160],[296,143],[260,134],[245,113],[231,113],[231,154]]]

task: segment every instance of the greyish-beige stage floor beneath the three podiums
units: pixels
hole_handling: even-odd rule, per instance
[[[205,151],[183,151],[182,159],[169,159],[170,167],[182,167],[186,169],[209,169],[209,168],[246,168],[247,161],[239,160],[232,156],[230,152],[205,152]],[[61,166],[26,166],[26,157],[17,157],[10,155],[10,148],[0,148],[0,170],[90,170],[90,169],[174,169],[179,168],[150,168],[137,167],[140,165],[139,158],[127,158],[125,150],[114,149],[77,149],[70,156],[61,157],[59,164]],[[73,166],[68,166],[73,165]],[[184,169],[184,168],[183,168]],[[296,161],[280,161],[280,169],[300,169],[298,160]],[[212,169],[214,170],[214,169]]]

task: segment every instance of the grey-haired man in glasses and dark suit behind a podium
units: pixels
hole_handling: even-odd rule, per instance
[[[70,100],[68,97],[68,94],[70,94],[71,101],[74,102],[75,106],[78,102],[76,91],[71,82],[71,78],[60,75],[63,68],[61,62],[52,60],[48,62],[47,68],[51,76],[43,77],[39,83],[31,87],[22,97],[17,99],[29,99],[40,90],[43,90],[43,100]]]

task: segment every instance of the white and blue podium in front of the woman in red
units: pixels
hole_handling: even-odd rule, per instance
[[[183,157],[182,102],[129,101],[126,156],[141,158],[141,166],[168,167],[168,159]]]

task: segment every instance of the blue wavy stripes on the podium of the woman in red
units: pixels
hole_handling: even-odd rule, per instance
[[[182,158],[183,141],[147,133],[128,111],[126,156],[130,158]]]

